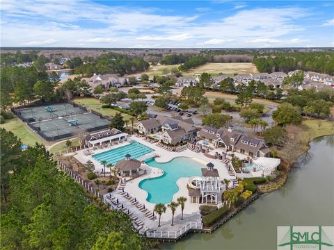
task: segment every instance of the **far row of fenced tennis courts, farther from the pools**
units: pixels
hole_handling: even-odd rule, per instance
[[[74,107],[69,103],[21,108],[15,111],[22,117],[24,122],[44,121],[46,119],[56,119],[58,117],[67,117],[69,115],[79,115],[86,112],[86,110]]]

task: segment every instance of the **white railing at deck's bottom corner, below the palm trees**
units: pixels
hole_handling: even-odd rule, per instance
[[[180,228],[180,230],[170,232],[170,231],[139,231],[141,234],[145,234],[148,238],[156,238],[156,239],[170,239],[177,240],[182,235],[186,234],[189,231],[200,231],[203,228],[202,223],[194,223],[190,222],[186,224],[186,226]]]

